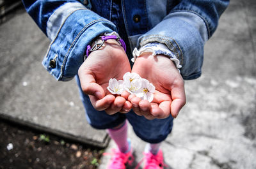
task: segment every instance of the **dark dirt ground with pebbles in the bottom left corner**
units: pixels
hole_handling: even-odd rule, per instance
[[[103,151],[0,120],[0,152],[0,169],[94,169]]]

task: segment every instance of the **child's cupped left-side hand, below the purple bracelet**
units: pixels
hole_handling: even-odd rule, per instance
[[[127,71],[131,71],[131,66],[116,40],[105,41],[102,48],[93,51],[83,62],[78,70],[81,87],[96,110],[105,110],[107,114],[131,110],[127,93],[114,96],[107,90],[110,78],[120,80]]]

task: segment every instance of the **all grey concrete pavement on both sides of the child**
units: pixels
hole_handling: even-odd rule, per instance
[[[161,145],[167,168],[256,168],[255,7],[231,1],[206,43],[202,77],[186,81],[187,104]],[[106,147],[106,133],[85,122],[76,82],[56,82],[41,66],[49,41],[24,10],[0,26],[0,37],[0,116]],[[129,137],[138,162],[145,142],[131,126]]]

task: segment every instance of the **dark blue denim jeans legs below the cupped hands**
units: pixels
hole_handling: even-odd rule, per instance
[[[173,117],[171,115],[166,119],[148,120],[143,116],[136,115],[132,110],[127,114],[118,112],[114,115],[108,115],[104,111],[95,110],[88,95],[83,93],[78,76],[76,76],[76,80],[79,87],[79,94],[85,108],[86,119],[93,128],[115,128],[127,119],[132,125],[134,133],[136,133],[141,140],[148,143],[162,142],[169,133],[171,133],[173,126]]]

